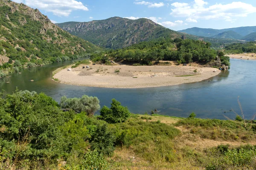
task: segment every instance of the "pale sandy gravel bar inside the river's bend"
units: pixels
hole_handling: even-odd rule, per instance
[[[58,79],[60,83],[70,85],[104,88],[148,88],[200,82],[221,72],[216,68],[182,65],[89,65],[90,68],[82,68],[82,66],[72,68],[71,71],[67,71],[68,68],[62,69],[53,77]],[[194,72],[195,69],[197,72]]]

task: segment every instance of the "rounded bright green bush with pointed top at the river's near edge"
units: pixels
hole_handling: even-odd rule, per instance
[[[130,117],[127,107],[121,105],[116,99],[112,99],[111,108],[104,106],[100,111],[101,119],[108,123],[125,122]]]

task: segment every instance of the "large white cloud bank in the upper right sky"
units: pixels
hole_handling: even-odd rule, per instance
[[[187,22],[197,22],[198,19],[219,19],[233,22],[236,17],[247,17],[256,12],[256,7],[248,3],[232,2],[228,4],[216,3],[206,7],[204,0],[194,0],[193,3],[172,3],[171,15],[174,17],[187,17]]]

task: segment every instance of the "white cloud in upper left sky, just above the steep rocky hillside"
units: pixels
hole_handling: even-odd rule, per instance
[[[88,11],[89,9],[80,1],[76,0],[15,0],[15,2],[25,3],[32,8],[38,8],[47,12],[52,12],[59,17],[69,16],[74,10]]]

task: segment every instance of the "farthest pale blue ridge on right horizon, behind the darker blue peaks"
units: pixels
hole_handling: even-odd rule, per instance
[[[241,36],[246,36],[253,32],[256,32],[256,26],[238,27],[238,28],[226,28],[226,29],[209,29],[209,28],[188,28],[185,30],[180,30],[179,32],[192,34],[195,36],[202,37],[213,37],[225,31],[234,31]]]

